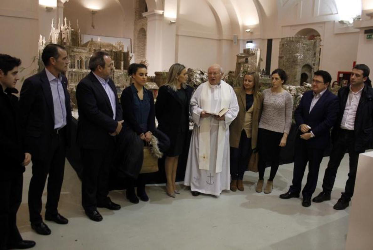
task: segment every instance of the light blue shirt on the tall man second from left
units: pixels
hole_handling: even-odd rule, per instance
[[[62,76],[58,78],[53,76],[46,68],[47,78],[52,90],[53,110],[54,110],[54,128],[63,128],[66,125],[66,105],[65,92],[62,87]]]

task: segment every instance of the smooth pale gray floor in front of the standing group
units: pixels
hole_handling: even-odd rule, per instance
[[[322,161],[315,195],[321,191],[328,160]],[[31,230],[28,221],[29,166],[18,226],[24,239],[37,242],[34,249],[344,249],[350,208],[337,211],[333,205],[347,180],[347,155],[339,167],[332,200],[312,203],[309,208],[301,206],[298,198],[278,198],[289,188],[292,169],[293,164],[280,166],[274,190],[267,195],[255,192],[257,174],[252,172],[245,173],[244,192],[225,191],[219,198],[193,197],[181,186],[181,194],[173,199],[164,186],[147,186],[150,201],[132,204],[123,191],[113,191],[110,197],[122,209],[99,209],[104,219],[94,222],[84,214],[80,181],[66,161],[59,212],[69,224],[48,222],[52,234],[42,236]],[[268,175],[269,169],[265,179]]]

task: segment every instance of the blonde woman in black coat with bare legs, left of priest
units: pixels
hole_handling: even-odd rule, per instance
[[[189,102],[193,88],[186,84],[188,75],[184,65],[175,63],[170,67],[167,83],[159,88],[156,102],[158,129],[170,138],[170,148],[164,154],[166,172],[166,193],[175,198],[176,170],[179,155],[187,141],[189,130]]]

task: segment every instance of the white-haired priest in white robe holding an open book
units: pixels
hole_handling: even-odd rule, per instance
[[[194,128],[184,185],[191,187],[193,196],[218,196],[222,190],[229,190],[229,124],[239,110],[233,88],[221,80],[220,65],[210,66],[207,74],[209,80],[198,86],[190,102]],[[228,111],[221,117],[209,114],[224,108]]]

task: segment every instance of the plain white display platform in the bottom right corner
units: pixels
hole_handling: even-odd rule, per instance
[[[373,151],[359,155],[346,250],[373,249]]]

